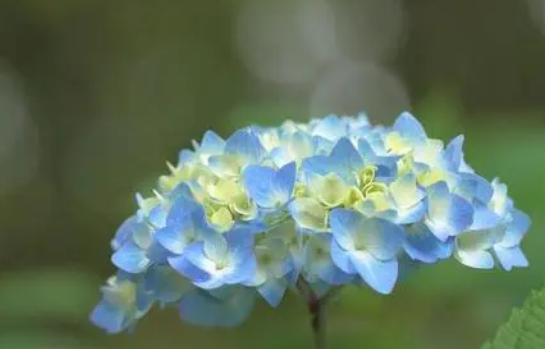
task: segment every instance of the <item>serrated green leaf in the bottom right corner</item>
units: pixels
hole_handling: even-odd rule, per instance
[[[481,349],[545,348],[545,289],[533,292]]]

